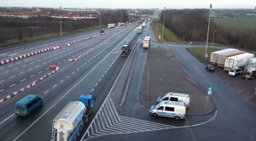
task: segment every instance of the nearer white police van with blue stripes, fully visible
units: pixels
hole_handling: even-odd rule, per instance
[[[173,117],[179,120],[185,118],[186,105],[183,102],[164,100],[159,104],[152,105],[149,112],[153,116]]]

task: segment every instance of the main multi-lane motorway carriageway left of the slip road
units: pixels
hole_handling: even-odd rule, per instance
[[[119,57],[120,48],[125,40],[137,37],[134,26],[106,30],[105,33],[96,36],[99,32],[95,31],[1,51],[1,60],[4,60],[42,48],[62,47],[0,66],[3,72],[0,76],[1,98],[51,72],[49,65],[60,68],[42,82],[1,104],[0,137],[3,140],[49,140],[52,119],[69,101],[78,99],[81,93],[94,94],[98,103],[95,109],[100,107],[108,87],[113,85],[125,64],[126,59]],[[91,38],[65,46],[67,42],[86,37]],[[68,61],[76,56],[82,57],[74,62]],[[31,116],[15,116],[15,102],[29,93],[38,94],[44,100],[44,106]]]

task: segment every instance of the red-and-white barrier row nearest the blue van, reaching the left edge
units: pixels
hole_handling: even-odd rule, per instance
[[[38,78],[37,80],[33,81],[32,83],[30,83],[29,85],[25,86],[25,87],[22,87],[20,88],[19,90],[15,91],[14,93],[10,93],[8,96],[6,97],[3,97],[3,99],[0,99],[0,104],[3,104],[5,101],[15,97],[15,95],[18,95],[24,91],[26,91],[26,89],[30,88],[30,87],[33,87],[35,85],[37,85],[39,82],[42,82],[45,78],[49,77],[49,76],[52,76],[53,74],[55,74],[56,72],[60,71],[60,68],[59,67],[56,67],[55,71],[51,71],[49,72],[48,74]]]

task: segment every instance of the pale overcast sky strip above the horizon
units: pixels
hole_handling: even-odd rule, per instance
[[[256,0],[0,0],[0,7],[255,8]]]

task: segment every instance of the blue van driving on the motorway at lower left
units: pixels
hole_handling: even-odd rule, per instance
[[[28,116],[34,110],[43,105],[43,100],[38,95],[28,94],[25,98],[20,99],[15,104],[15,115]]]

